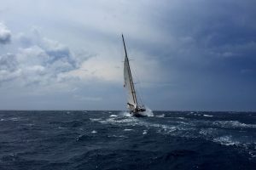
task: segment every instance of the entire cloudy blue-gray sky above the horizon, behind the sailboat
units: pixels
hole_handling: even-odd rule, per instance
[[[0,110],[256,111],[254,0],[1,0]]]

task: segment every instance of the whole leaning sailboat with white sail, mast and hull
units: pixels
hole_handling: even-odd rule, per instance
[[[125,38],[122,34],[124,48]],[[125,62],[124,62],[124,87],[127,91],[127,108],[130,110],[132,116],[145,116],[143,112],[146,111],[143,105],[140,105],[137,100],[137,94],[134,87],[134,82],[131,77],[131,68],[128,59],[128,55],[125,48]]]

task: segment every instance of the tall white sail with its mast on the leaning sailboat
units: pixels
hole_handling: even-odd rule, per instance
[[[122,35],[122,38],[123,38],[124,48],[125,48],[125,39],[123,35]],[[131,69],[130,69],[126,48],[125,48],[125,62],[124,62],[124,78],[125,78],[124,86],[127,90],[127,102],[128,102],[127,106],[131,111],[134,111],[137,109],[137,97],[136,97],[136,92],[134,88],[134,83],[131,77]]]

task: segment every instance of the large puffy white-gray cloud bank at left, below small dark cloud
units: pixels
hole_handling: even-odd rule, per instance
[[[20,34],[16,40],[23,47],[18,47],[15,54],[0,55],[0,82],[49,85],[60,81],[61,74],[78,68],[79,63],[67,46],[38,32],[33,29],[30,35]]]

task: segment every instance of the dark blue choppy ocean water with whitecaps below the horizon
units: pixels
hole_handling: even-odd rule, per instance
[[[0,169],[256,169],[256,113],[0,111]]]

